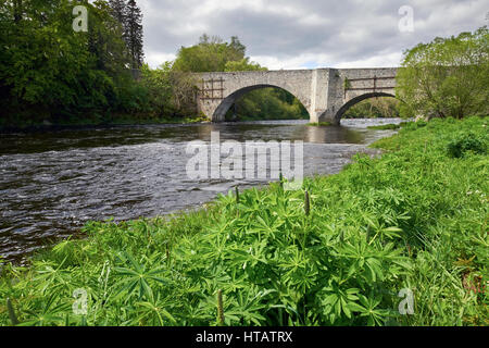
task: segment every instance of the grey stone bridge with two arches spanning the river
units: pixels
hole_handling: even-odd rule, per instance
[[[339,124],[355,103],[373,97],[394,97],[397,67],[316,69],[199,74],[199,111],[222,122],[244,94],[278,87],[299,99],[311,122]]]

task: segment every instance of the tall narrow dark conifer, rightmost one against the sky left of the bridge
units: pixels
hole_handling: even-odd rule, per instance
[[[142,13],[135,0],[127,2],[125,18],[126,42],[133,69],[142,65],[145,53],[142,51]]]

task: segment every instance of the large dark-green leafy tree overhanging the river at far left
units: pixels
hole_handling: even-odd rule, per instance
[[[89,12],[88,33],[73,32],[76,3],[9,0],[0,4],[2,124],[88,122],[89,114],[117,108],[124,85],[134,84],[106,1],[82,2]]]

